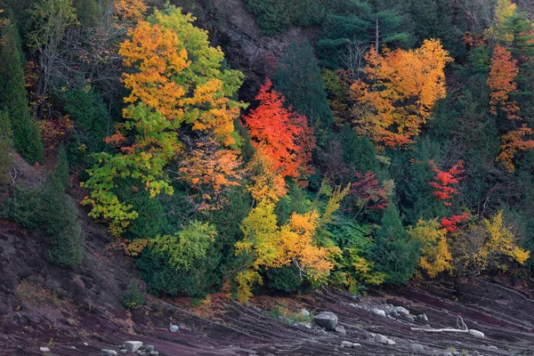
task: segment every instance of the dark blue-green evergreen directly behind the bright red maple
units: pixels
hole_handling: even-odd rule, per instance
[[[279,60],[274,89],[286,97],[293,109],[308,117],[321,142],[321,136],[328,132],[333,118],[319,63],[310,42],[304,40],[287,45]]]

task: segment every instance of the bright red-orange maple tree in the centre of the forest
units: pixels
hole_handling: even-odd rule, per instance
[[[275,171],[284,177],[299,179],[311,174],[316,140],[306,117],[284,106],[284,96],[272,90],[270,79],[255,99],[260,104],[245,122],[256,150],[269,158]]]

